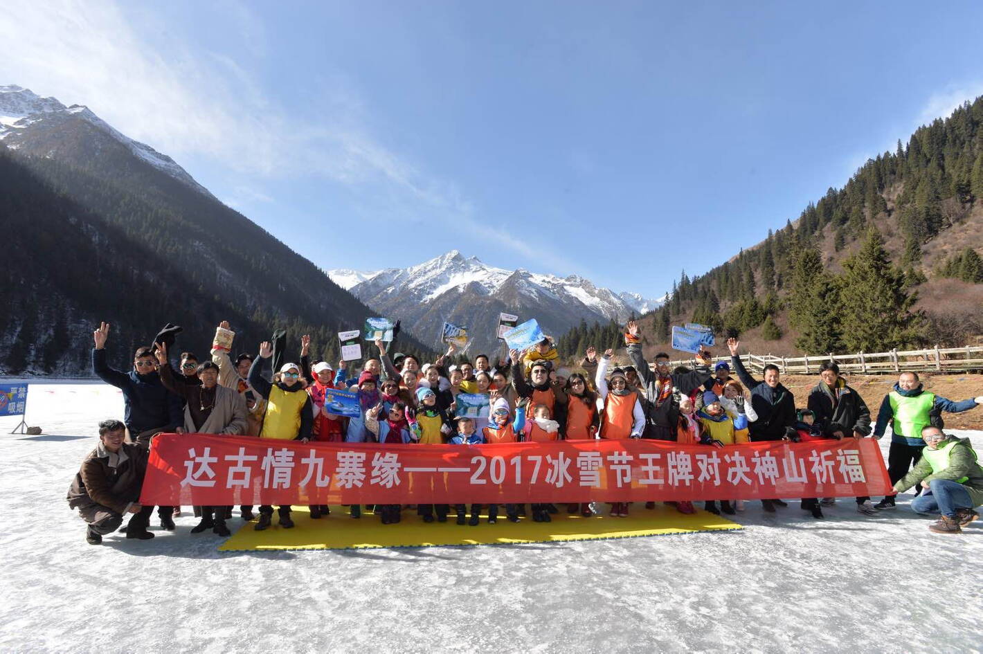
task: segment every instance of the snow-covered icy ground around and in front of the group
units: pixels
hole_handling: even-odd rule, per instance
[[[983,651],[983,521],[936,536],[907,496],[823,521],[749,503],[738,532],[339,552],[220,554],[186,513],[92,547],[65,493],[106,417],[115,388],[71,383],[31,387],[42,436],[0,419],[0,651]]]

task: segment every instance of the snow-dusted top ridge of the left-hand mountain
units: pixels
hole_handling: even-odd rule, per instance
[[[64,124],[64,121],[73,119],[86,121],[130,149],[146,163],[211,197],[207,189],[175,163],[174,159],[120,133],[87,106],[73,104],[66,107],[54,97],[40,97],[30,89],[17,85],[0,86],[0,141],[11,149],[21,149],[29,144],[36,134],[44,131],[46,125],[54,129]]]

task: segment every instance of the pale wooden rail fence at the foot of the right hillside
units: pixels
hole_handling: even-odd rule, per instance
[[[902,371],[914,372],[965,372],[983,370],[983,346],[939,347],[924,350],[891,350],[890,352],[857,352],[856,354],[810,354],[801,357],[781,357],[774,354],[741,354],[741,361],[749,371],[764,372],[765,366],[775,364],[782,374],[814,375],[824,361],[836,361],[841,373],[887,375]],[[714,357],[714,363],[730,361],[730,357]],[[695,365],[693,359],[672,361],[670,366]]]

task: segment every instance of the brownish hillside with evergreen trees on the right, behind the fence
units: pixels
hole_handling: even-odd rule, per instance
[[[874,250],[860,254],[872,229],[889,266],[865,261]],[[652,351],[668,350],[669,327],[693,321],[775,354],[965,344],[983,334],[981,253],[983,97],[869,159],[753,248],[704,274],[684,271],[665,306],[643,319],[645,339]],[[851,285],[858,279],[870,287]],[[850,327],[865,315],[880,320],[865,305],[882,301],[888,287],[898,292],[881,313],[913,328]],[[832,328],[817,333],[820,324]]]

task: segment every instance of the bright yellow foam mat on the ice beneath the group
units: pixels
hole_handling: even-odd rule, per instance
[[[657,505],[645,508],[632,505],[628,517],[610,517],[607,505],[604,512],[593,517],[570,515],[566,505],[558,505],[560,512],[552,515],[551,522],[534,522],[532,513],[518,522],[505,518],[504,507],[498,506],[498,521],[488,523],[488,510],[482,511],[481,524],[459,525],[451,511],[446,522],[427,523],[415,508],[404,508],[397,524],[382,524],[378,515],[362,510],[362,517],[353,518],[347,506],[331,506],[330,515],[311,519],[306,506],[295,506],[291,517],[296,523],[293,529],[273,525],[256,531],[255,521],[242,524],[239,530],[225,541],[220,552],[244,552],[267,550],[348,550],[390,547],[432,547],[437,545],[505,545],[509,543],[559,543],[563,541],[587,541],[607,538],[633,538],[689,534],[699,531],[727,531],[741,529],[736,522],[705,510],[685,515],[672,507]],[[238,512],[238,511],[237,511]],[[470,514],[469,514],[470,516]],[[229,526],[239,521],[238,516],[229,520]]]

